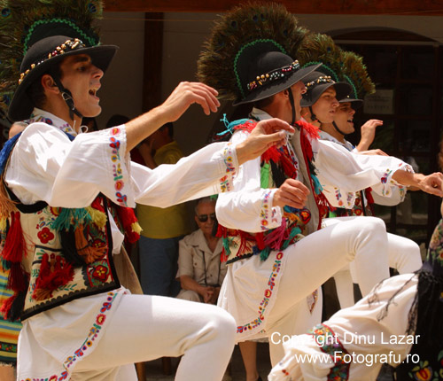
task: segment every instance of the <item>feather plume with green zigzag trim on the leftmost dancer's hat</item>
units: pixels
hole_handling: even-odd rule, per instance
[[[18,86],[19,66],[27,49],[58,31],[72,30],[83,43],[99,43],[98,28],[101,0],[0,0],[0,108],[6,111]]]

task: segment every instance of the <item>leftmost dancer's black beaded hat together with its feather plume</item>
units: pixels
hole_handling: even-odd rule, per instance
[[[0,12],[0,107],[12,121],[29,118],[29,86],[63,58],[87,54],[105,71],[118,49],[99,43],[100,0],[0,0]]]

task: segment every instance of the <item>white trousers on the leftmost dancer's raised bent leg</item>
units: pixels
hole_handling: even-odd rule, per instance
[[[234,349],[236,323],[219,307],[149,295],[124,295],[97,348],[73,381],[136,381],[134,362],[183,355],[177,381],[220,381]],[[111,367],[110,367],[111,366]]]

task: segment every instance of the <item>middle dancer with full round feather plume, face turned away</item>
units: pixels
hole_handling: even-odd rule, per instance
[[[221,17],[198,62],[201,80],[237,99],[234,105],[254,105],[249,119],[230,124],[231,142],[271,117],[296,127],[280,150],[242,166],[216,207],[229,255],[219,306],[236,318],[237,341],[269,338],[273,364],[284,354],[282,337],[306,323],[296,322],[297,308],[346,262],[355,260],[364,294],[389,276],[383,221],[361,217],[316,231],[327,211],[320,184],[336,195],[335,206],[352,207],[354,191],[387,190],[391,181],[443,194],[434,188],[441,175],[415,175],[395,158],[354,155],[318,141],[316,128],[300,121],[301,80],[316,68],[301,69],[291,58],[304,34],[282,5],[242,5]]]

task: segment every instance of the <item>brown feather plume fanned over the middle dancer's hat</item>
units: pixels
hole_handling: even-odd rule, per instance
[[[257,40],[272,40],[280,51],[297,58],[307,29],[276,3],[246,3],[234,7],[216,21],[198,59],[198,80],[219,91],[219,97],[235,100],[242,96],[237,85],[237,53]]]

